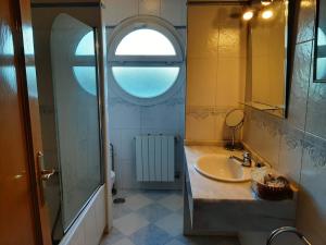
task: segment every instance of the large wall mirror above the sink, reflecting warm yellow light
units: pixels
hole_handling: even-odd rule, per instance
[[[291,1],[251,1],[246,105],[286,117],[290,64]]]

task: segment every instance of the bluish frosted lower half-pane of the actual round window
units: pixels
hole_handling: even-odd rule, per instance
[[[139,98],[162,95],[176,82],[179,68],[113,66],[113,76],[122,89]]]

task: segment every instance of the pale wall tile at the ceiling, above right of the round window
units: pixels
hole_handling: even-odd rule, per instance
[[[175,26],[186,26],[187,0],[161,0],[161,17]]]

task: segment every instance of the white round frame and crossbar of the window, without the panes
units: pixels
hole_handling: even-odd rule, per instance
[[[173,45],[176,56],[116,56],[115,51],[122,39],[129,33],[149,28],[164,35]],[[185,50],[179,33],[168,22],[154,16],[136,16],[127,19],[117,25],[110,35],[108,44],[108,74],[114,91],[125,100],[140,105],[151,106],[165,101],[183,84],[185,79]],[[179,68],[179,73],[174,84],[161,95],[151,98],[141,98],[124,90],[113,75],[113,66],[160,66]]]

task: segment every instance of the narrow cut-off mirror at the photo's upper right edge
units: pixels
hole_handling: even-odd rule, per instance
[[[326,0],[317,1],[314,82],[326,83]]]

